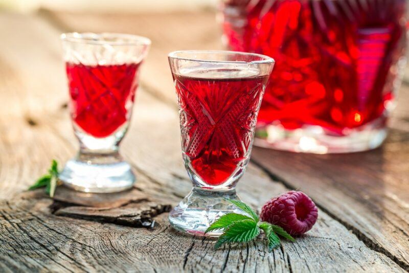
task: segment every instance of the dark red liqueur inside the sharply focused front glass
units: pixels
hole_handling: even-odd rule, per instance
[[[220,185],[249,156],[268,76],[173,77],[185,160],[205,183]]]

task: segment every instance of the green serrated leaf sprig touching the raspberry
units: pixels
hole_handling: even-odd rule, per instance
[[[238,200],[226,200],[233,203],[249,216],[238,213],[228,213],[214,221],[206,230],[205,234],[215,230],[223,230],[223,234],[220,235],[214,246],[215,250],[225,243],[245,243],[252,241],[259,236],[261,231],[264,232],[264,237],[268,243],[268,251],[270,252],[280,245],[278,235],[291,242],[295,241],[281,226],[261,222],[256,212],[247,206],[247,204]]]

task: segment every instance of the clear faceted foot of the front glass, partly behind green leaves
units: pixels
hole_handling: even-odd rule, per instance
[[[205,231],[217,218],[231,212],[245,214],[225,199],[240,200],[236,190],[217,192],[193,188],[170,212],[169,222],[181,232],[218,237],[222,232],[213,231],[205,235]]]

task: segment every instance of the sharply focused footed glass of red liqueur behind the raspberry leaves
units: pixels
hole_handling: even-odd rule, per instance
[[[183,160],[193,190],[169,220],[175,229],[205,236],[218,217],[236,211],[235,186],[252,150],[270,57],[231,51],[169,54],[180,115]],[[212,232],[207,236],[218,236]]]

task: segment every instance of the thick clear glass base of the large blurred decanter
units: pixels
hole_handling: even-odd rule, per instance
[[[375,149],[386,137],[386,128],[374,128],[370,125],[350,129],[348,135],[342,137],[329,135],[320,126],[286,130],[281,125],[268,125],[256,129],[254,145],[292,152],[350,153]]]

